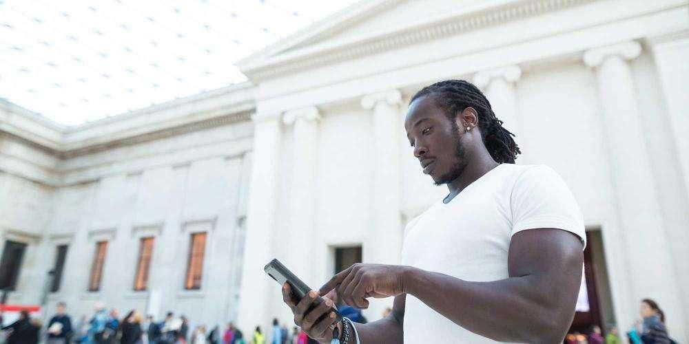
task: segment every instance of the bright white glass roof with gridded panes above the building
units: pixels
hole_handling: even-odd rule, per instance
[[[240,58],[354,0],[0,0],[0,98],[78,125],[246,80]]]

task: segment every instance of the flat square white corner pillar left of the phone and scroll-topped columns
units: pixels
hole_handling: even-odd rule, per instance
[[[274,295],[280,288],[265,272],[263,266],[274,258],[271,255],[276,221],[278,166],[280,166],[280,116],[255,114],[253,167],[249,182],[245,259],[239,294],[238,326],[245,333],[253,333],[260,325],[270,329],[274,303],[282,302]]]

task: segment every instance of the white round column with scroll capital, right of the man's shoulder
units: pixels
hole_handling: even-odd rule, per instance
[[[626,283],[630,294],[626,299],[615,300],[616,315],[618,327],[628,328],[636,312],[635,305],[650,297],[657,299],[666,311],[670,328],[681,328],[685,318],[679,286],[673,273],[644,140],[644,123],[639,116],[628,64],[639,54],[641,45],[635,41],[598,47],[584,54],[584,63],[595,68],[612,170],[615,199],[611,201],[619,222],[619,233],[615,233],[613,240],[623,241],[625,252],[616,254],[624,255],[628,270]]]

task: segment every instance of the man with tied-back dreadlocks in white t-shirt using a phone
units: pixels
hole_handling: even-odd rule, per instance
[[[586,237],[562,178],[515,165],[513,135],[464,80],[418,92],[404,128],[424,173],[448,195],[407,225],[402,265],[355,264],[320,294],[336,288],[357,308],[395,297],[387,318],[354,325],[361,343],[562,343]],[[334,326],[342,333],[331,301],[309,310],[317,292],[295,303],[286,283],[282,294],[309,336],[327,343]]]

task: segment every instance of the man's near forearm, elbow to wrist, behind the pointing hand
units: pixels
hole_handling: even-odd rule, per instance
[[[555,337],[562,335],[559,327],[567,315],[548,306],[551,295],[534,292],[534,279],[526,276],[470,282],[409,268],[404,291],[457,325],[496,341],[561,341]]]

